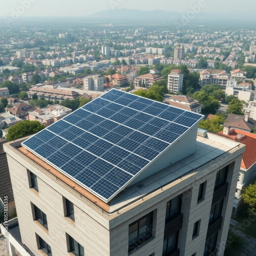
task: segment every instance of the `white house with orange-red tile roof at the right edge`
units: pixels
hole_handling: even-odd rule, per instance
[[[231,130],[230,126],[225,126],[220,134],[246,145],[240,166],[236,194],[234,195],[232,214],[236,215],[243,206],[243,188],[248,186],[256,177],[256,154],[254,154],[256,135],[238,129]]]

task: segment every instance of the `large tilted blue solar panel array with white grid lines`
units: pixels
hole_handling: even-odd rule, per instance
[[[23,146],[109,202],[201,118],[113,89]]]

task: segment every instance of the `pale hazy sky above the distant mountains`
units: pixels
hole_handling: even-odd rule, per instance
[[[113,8],[187,13],[199,3],[207,13],[243,13],[248,17],[254,16],[256,9],[255,0],[2,0],[0,16],[11,16],[15,11],[20,16],[86,16]]]

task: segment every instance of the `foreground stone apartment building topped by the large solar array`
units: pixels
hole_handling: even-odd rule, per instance
[[[223,255],[245,146],[198,132],[202,118],[111,90],[7,143],[18,216],[9,248],[23,255]]]

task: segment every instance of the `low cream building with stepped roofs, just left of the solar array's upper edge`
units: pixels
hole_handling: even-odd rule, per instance
[[[58,104],[48,105],[46,108],[36,109],[28,112],[30,121],[38,121],[46,127],[57,122],[72,112],[71,109]]]

